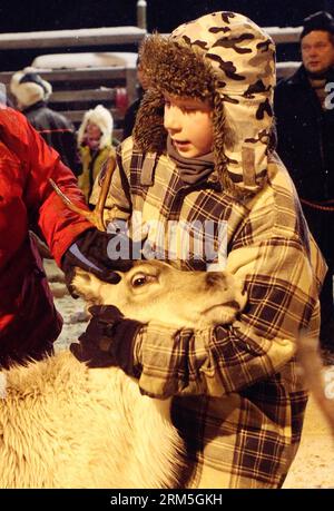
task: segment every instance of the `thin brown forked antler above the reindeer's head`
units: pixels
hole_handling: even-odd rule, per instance
[[[98,202],[96,204],[96,207],[94,208],[92,212],[87,212],[86,209],[80,208],[79,206],[76,206],[59,188],[58,185],[53,181],[53,179],[49,178],[49,181],[57,193],[57,195],[61,198],[63,204],[71,209],[75,213],[78,213],[79,215],[84,216],[87,218],[91,224],[94,224],[99,230],[107,230],[107,226],[104,220],[104,208],[107,199],[107,195],[109,191],[110,183],[111,183],[111,177],[114,174],[114,170],[116,168],[116,154],[115,150],[112,154],[110,154],[108,161],[107,161],[107,167],[106,167],[106,173],[101,179],[101,189],[99,193]]]

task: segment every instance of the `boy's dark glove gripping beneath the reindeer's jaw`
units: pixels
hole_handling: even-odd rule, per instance
[[[127,374],[136,375],[134,370],[135,338],[143,323],[125,318],[114,305],[94,305],[92,315],[86,332],[70,351],[88,367],[121,367]]]

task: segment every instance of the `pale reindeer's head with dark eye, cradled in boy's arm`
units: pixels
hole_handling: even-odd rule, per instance
[[[228,272],[181,272],[160,261],[138,262],[108,284],[80,268],[72,285],[90,304],[115,305],[126,317],[178,327],[232,323],[246,294]]]

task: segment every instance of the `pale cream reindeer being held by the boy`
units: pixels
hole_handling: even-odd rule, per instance
[[[246,302],[227,272],[151,261],[120,276],[111,285],[77,269],[73,284],[134,320],[193,328],[230,323]],[[69,351],[0,375],[0,488],[178,487],[183,442],[170,400],[141,395],[120,368],[88,368]]]

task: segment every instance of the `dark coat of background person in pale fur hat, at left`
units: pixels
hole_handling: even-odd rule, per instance
[[[39,101],[23,110],[24,116],[49,146],[59,153],[62,163],[76,175],[79,171],[73,125],[58,111]]]

